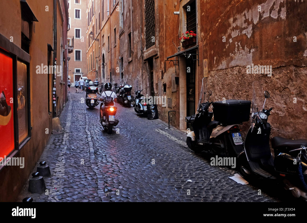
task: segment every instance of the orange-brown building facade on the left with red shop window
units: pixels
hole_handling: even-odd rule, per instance
[[[67,101],[66,0],[4,0],[0,14],[0,201],[15,201]],[[55,32],[54,32],[55,31]],[[56,65],[55,69],[52,66]],[[50,67],[51,68],[50,68]],[[20,158],[23,165],[6,165]]]

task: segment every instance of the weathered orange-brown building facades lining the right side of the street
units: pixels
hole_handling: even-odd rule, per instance
[[[100,34],[95,32],[94,37],[99,39],[95,57],[100,67],[94,68],[91,56],[97,43],[88,50],[87,59],[89,73],[99,82],[113,84],[124,78],[133,89],[141,88],[145,95],[158,98],[161,120],[168,122],[171,111],[171,125],[187,130],[191,126],[185,116],[196,112],[203,77],[208,77],[208,90],[213,91],[215,101],[252,100],[252,83],[260,81],[272,92],[267,104],[274,108],[271,136],[297,138],[295,132],[300,132],[307,138],[301,122],[307,115],[306,2],[92,2],[100,4],[94,15],[101,21]],[[89,30],[93,27],[89,24]],[[196,37],[181,43],[180,38],[190,31]],[[248,74],[252,65],[272,66],[272,75]],[[281,116],[286,117],[282,123],[278,122]]]

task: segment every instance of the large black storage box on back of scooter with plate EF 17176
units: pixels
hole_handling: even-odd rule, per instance
[[[251,101],[224,100],[213,102],[214,120],[227,125],[247,122],[250,117]]]

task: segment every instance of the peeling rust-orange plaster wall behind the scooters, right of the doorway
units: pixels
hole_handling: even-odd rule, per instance
[[[307,138],[307,1],[208,0],[200,7],[198,40],[208,59],[213,100],[251,100],[253,81],[261,81],[271,94],[271,137]],[[272,76],[247,74],[252,63],[271,65]],[[198,82],[201,77],[200,71]]]

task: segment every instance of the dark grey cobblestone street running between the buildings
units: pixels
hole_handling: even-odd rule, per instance
[[[118,129],[107,134],[99,123],[99,105],[88,109],[80,103],[84,97],[69,93],[60,116],[64,133],[51,136],[38,161],[50,166],[49,194],[31,194],[27,182],[17,201],[278,201],[231,180],[237,172],[211,166],[210,159],[193,153],[184,132],[137,116],[132,107],[116,103]]]

